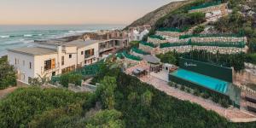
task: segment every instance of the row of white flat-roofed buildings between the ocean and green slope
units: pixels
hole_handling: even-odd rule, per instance
[[[9,49],[9,63],[15,66],[18,80],[28,84],[30,79],[51,77],[90,65],[128,46],[127,40],[75,40],[38,42],[32,48]]]

